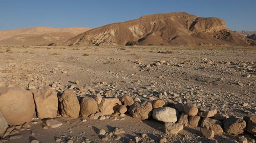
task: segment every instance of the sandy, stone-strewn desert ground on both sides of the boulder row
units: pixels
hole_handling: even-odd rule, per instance
[[[50,86],[62,93],[72,89],[78,97],[102,93],[103,96],[131,95],[140,100],[164,99],[185,103],[190,100],[200,108],[217,108],[228,116],[249,116],[256,113],[256,47],[189,47],[189,46],[1,46],[0,87],[34,89]],[[79,81],[79,82],[78,82]],[[76,84],[78,83],[78,84]],[[187,126],[179,135],[166,135],[163,123],[153,119],[140,121],[129,116],[112,121],[81,118],[69,120],[55,129],[43,129],[37,118],[31,130],[20,131],[22,138],[7,142],[103,142],[100,129],[112,132],[122,128],[121,139],[128,142],[208,142],[199,128]],[[35,133],[34,136],[31,132]],[[215,139],[248,141],[255,136],[222,134]]]

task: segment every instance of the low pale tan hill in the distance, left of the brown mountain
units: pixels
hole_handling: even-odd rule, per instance
[[[0,31],[0,45],[49,45],[52,42],[68,40],[90,29],[89,27],[41,26]]]

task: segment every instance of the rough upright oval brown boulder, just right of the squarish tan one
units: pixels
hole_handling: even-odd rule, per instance
[[[78,118],[80,104],[75,93],[71,90],[65,90],[59,97],[60,114],[66,118]]]

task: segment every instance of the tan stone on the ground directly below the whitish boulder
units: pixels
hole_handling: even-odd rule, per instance
[[[166,134],[176,135],[179,131],[183,130],[183,125],[179,123],[165,123],[164,130]]]

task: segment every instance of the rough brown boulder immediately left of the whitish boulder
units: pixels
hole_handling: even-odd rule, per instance
[[[146,120],[152,116],[152,109],[153,107],[150,102],[136,102],[129,108],[129,113],[132,115],[133,118]]]

